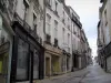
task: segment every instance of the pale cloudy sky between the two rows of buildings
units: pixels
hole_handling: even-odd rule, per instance
[[[65,0],[67,6],[71,6],[79,14],[88,38],[92,55],[97,56],[97,25],[99,21],[100,0]]]

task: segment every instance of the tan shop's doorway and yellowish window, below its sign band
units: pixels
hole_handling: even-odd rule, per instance
[[[44,74],[46,76],[58,75],[61,72],[61,61],[60,56],[53,55],[51,53],[46,53],[46,65]]]

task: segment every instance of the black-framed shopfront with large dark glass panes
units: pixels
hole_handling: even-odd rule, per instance
[[[44,49],[38,43],[30,30],[26,30],[18,21],[12,25],[13,54],[11,65],[11,83],[33,83],[43,79]]]

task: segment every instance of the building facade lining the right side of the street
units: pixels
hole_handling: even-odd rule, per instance
[[[111,1],[101,0],[100,21],[98,23],[98,58],[100,65],[108,72],[111,68],[110,42],[111,42]]]

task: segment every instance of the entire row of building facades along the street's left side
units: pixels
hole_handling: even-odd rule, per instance
[[[80,17],[64,0],[0,0],[0,83],[33,83],[87,66]]]

